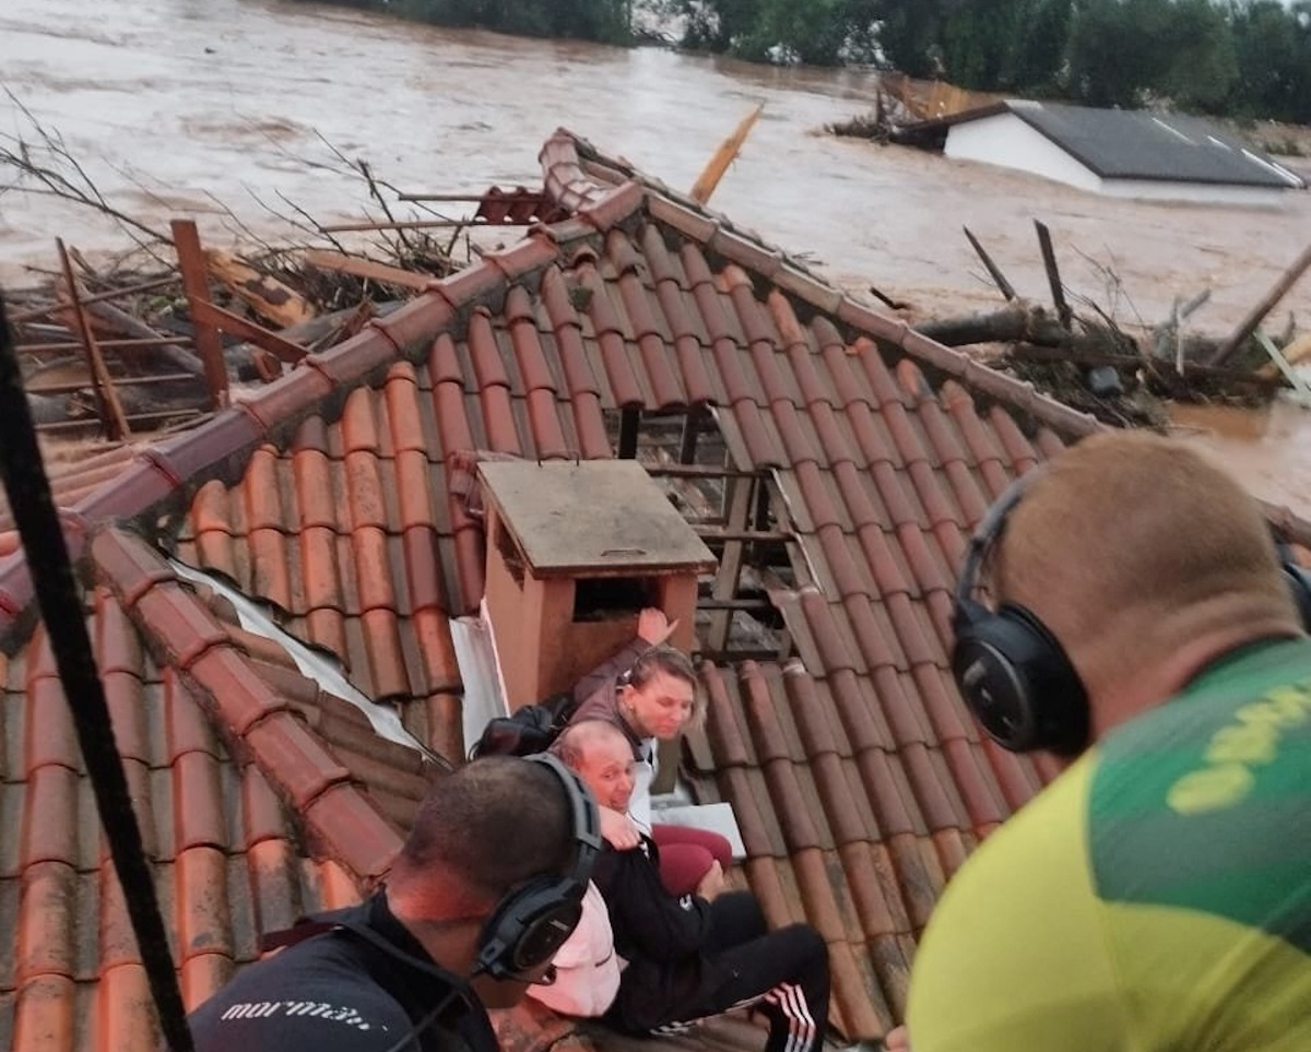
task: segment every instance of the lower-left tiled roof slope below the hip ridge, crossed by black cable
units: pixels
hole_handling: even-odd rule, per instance
[[[144,602],[144,599],[143,599]],[[194,686],[143,648],[109,589],[89,627],[184,994],[203,1001],[260,931],[355,885],[303,834],[258,763],[239,765]],[[0,657],[0,1048],[151,1048],[149,990],[43,631]]]

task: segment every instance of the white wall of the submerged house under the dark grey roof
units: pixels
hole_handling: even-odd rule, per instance
[[[999,113],[953,126],[947,132],[943,152],[956,160],[1013,168],[1106,197],[1264,207],[1286,203],[1285,190],[1276,186],[1103,178],[1013,113]]]

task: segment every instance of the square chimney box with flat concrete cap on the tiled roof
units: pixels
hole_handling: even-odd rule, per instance
[[[697,575],[714,556],[636,460],[480,464],[486,613],[511,711],[573,685],[656,606],[692,649]]]

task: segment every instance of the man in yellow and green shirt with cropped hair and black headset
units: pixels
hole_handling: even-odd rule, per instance
[[[1071,766],[952,880],[889,1048],[1311,1048],[1308,617],[1255,502],[1168,439],[1087,438],[999,500],[954,673]]]

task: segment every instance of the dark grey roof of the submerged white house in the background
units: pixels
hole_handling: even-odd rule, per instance
[[[1011,114],[1108,180],[1304,188],[1306,182],[1218,125],[1184,114],[1106,110],[1011,98],[902,130],[941,143],[961,125]]]

